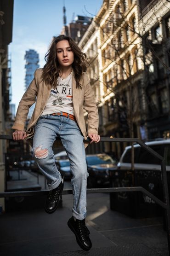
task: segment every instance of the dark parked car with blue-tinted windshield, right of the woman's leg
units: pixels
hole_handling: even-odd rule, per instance
[[[117,162],[109,155],[95,154],[86,156],[87,169],[89,177],[87,179],[87,187],[109,186],[109,172],[116,169]]]

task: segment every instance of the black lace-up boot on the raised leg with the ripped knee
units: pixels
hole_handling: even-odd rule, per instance
[[[64,181],[64,179],[62,176],[62,181],[61,181],[60,185],[57,186],[57,188],[55,188],[55,189],[51,189],[50,192],[48,193],[48,196],[45,200],[45,207],[44,207],[45,211],[47,213],[53,213],[57,209],[59,200],[60,200],[60,196],[62,194],[62,190],[64,187],[63,181]]]

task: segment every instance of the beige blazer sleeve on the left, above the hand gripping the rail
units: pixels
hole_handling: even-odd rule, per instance
[[[14,130],[22,130],[22,131],[24,130],[29,108],[36,101],[36,96],[38,92],[36,77],[37,77],[37,70],[35,70],[34,72],[34,79],[31,81],[30,85],[28,86],[26,92],[23,94],[23,97],[19,102],[15,122],[12,126],[12,129]]]

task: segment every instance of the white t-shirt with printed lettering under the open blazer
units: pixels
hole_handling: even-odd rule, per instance
[[[41,116],[61,111],[74,115],[72,74],[64,79],[58,77],[57,87],[51,89],[49,99]]]

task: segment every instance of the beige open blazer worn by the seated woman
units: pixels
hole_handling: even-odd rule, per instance
[[[42,69],[37,69],[34,72],[34,79],[30,83],[28,89],[23,94],[23,97],[18,105],[16,120],[12,129],[25,130],[25,122],[28,116],[29,108],[35,103],[33,115],[28,123],[26,129],[27,137],[30,139],[34,135],[34,126],[43,112],[46,102],[50,96],[51,88],[41,80]],[[79,128],[85,138],[88,134],[98,133],[98,110],[95,102],[93,90],[91,88],[89,78],[86,73],[83,73],[80,81],[82,89],[76,88],[76,81],[74,79],[74,71],[72,70],[72,90],[73,90],[73,105],[74,114]],[[86,131],[84,109],[88,112],[88,127]]]

